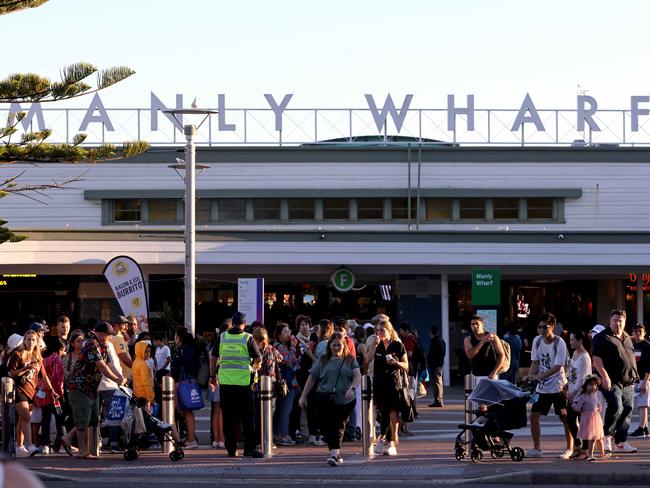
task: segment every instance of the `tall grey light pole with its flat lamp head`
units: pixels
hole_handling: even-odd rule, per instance
[[[216,110],[203,110],[199,108],[187,108],[176,110],[165,110],[164,113],[171,114],[174,119],[183,125],[178,115],[195,116],[200,120],[198,125],[187,124],[183,126],[185,134],[185,164],[172,165],[174,169],[185,169],[185,307],[184,307],[184,324],[185,328],[194,335],[195,333],[195,313],[194,306],[196,303],[196,219],[195,219],[195,202],[196,202],[196,146],[194,145],[194,136],[203,122],[211,114],[216,114]],[[200,119],[202,117],[202,120]]]

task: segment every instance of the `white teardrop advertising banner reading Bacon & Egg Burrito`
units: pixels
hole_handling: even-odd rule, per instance
[[[104,276],[120,304],[122,313],[138,319],[140,332],[148,331],[147,287],[138,263],[128,256],[117,256],[104,268]]]

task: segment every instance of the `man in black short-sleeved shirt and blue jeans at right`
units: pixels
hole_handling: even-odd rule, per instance
[[[625,333],[625,310],[612,310],[609,327],[594,337],[593,366],[602,379],[605,409],[605,451],[612,450],[612,437],[618,452],[636,452],[627,442],[632,419],[634,383],[639,380],[634,345]]]

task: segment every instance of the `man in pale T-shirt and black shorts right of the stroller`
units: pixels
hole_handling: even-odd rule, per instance
[[[573,436],[567,423],[567,397],[564,387],[566,377],[567,347],[564,340],[554,333],[555,316],[551,313],[542,315],[537,325],[538,336],[533,339],[530,358],[531,365],[528,381],[537,381],[536,396],[530,411],[530,434],[533,449],[526,457],[542,457],[540,416],[548,415],[551,405],[564,427],[566,449],[560,459],[569,459],[573,454]]]

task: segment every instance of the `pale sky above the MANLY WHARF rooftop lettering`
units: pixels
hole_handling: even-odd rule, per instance
[[[413,93],[414,108],[445,107],[447,93],[518,108],[528,91],[538,108],[573,108],[581,84],[601,108],[627,108],[650,92],[649,14],[647,0],[50,0],[0,17],[15,46],[0,76],[133,67],[102,92],[107,107],[148,107],[153,90],[241,108],[268,107],[264,93],[352,108],[388,92]]]

